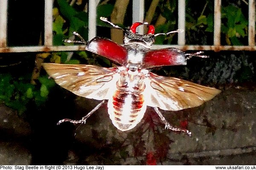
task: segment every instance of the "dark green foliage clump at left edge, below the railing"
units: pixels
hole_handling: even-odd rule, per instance
[[[31,75],[19,78],[12,77],[12,74],[0,74],[0,101],[18,111],[19,114],[26,111],[31,104],[43,105],[49,94],[49,90],[55,83],[45,77],[40,77],[40,85],[30,83]]]

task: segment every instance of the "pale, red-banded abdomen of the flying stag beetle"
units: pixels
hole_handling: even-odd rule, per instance
[[[146,105],[142,94],[116,91],[108,101],[108,114],[113,125],[122,131],[134,128],[143,118]]]

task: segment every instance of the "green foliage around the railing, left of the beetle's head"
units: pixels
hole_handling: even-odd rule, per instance
[[[57,0],[58,8],[53,9],[53,44],[54,45],[70,45],[64,43],[65,39],[77,38],[73,32],[78,32],[85,40],[88,37],[88,14],[79,11],[78,6],[70,6],[67,0]],[[97,23],[98,26],[109,26],[109,24],[101,21],[99,17],[110,17],[113,11],[112,4],[102,4],[97,7]],[[90,59],[85,51],[76,51],[72,55],[75,59],[70,59],[67,52],[52,53],[50,62],[65,64],[80,64],[81,61],[87,64],[96,64],[94,59]],[[109,61],[105,61],[108,64]]]

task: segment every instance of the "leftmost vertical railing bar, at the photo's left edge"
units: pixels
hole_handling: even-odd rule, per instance
[[[7,4],[8,0],[0,0],[0,47],[7,45]]]

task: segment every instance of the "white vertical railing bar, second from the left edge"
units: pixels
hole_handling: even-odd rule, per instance
[[[52,46],[52,0],[44,1],[44,45]]]

